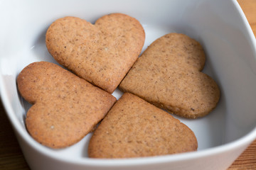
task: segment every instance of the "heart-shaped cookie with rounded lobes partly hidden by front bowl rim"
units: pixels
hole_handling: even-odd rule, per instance
[[[169,113],[133,94],[124,94],[95,130],[92,158],[150,157],[196,151],[193,131]]]

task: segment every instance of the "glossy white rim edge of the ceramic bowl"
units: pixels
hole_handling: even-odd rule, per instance
[[[255,60],[256,60],[256,39],[255,35],[250,28],[250,24],[247,21],[245,13],[243,13],[242,8],[238,4],[238,1],[232,0],[235,8],[240,13],[242,18],[242,22],[246,28],[246,33],[248,34],[250,44],[252,45],[252,49],[254,50]],[[228,152],[232,149],[238,149],[242,147],[247,147],[250,143],[256,139],[256,125],[247,135],[240,137],[238,140],[234,140],[232,142],[228,142],[224,145],[219,145],[216,147],[210,147],[207,149],[199,150],[197,152],[186,152],[181,154],[171,154],[171,155],[163,155],[156,157],[142,157],[142,158],[129,158],[129,159],[92,159],[88,157],[65,157],[60,154],[54,154],[53,150],[47,148],[35,140],[28,134],[26,128],[22,127],[20,121],[16,117],[13,108],[11,107],[11,103],[5,100],[8,98],[6,94],[6,89],[4,88],[4,81],[0,70],[0,97],[3,103],[4,109],[6,111],[6,115],[9,118],[9,121],[14,128],[14,131],[20,135],[23,140],[28,142],[28,144],[33,147],[33,149],[37,150],[41,154],[46,155],[52,159],[56,159],[60,162],[72,163],[72,164],[80,164],[80,165],[89,165],[89,166],[134,166],[134,165],[143,165],[143,164],[161,164],[166,162],[180,162],[185,159],[198,159],[201,157],[208,157],[210,155],[220,154],[223,152]],[[16,134],[17,135],[17,134]]]

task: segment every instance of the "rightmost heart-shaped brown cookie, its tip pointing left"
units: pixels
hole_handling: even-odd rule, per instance
[[[218,85],[201,72],[205,60],[199,42],[166,34],[149,45],[119,89],[184,118],[205,116],[220,98]]]

